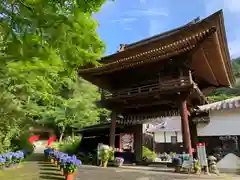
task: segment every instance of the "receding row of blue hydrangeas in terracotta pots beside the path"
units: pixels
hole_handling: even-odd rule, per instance
[[[69,156],[53,149],[45,149],[44,155],[47,161],[55,164],[65,176],[66,180],[71,180],[75,177],[76,171],[81,164],[75,155]]]

